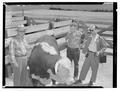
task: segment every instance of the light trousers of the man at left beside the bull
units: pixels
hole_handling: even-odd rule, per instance
[[[13,67],[14,86],[26,86],[27,81],[27,57],[16,57],[18,67]]]

